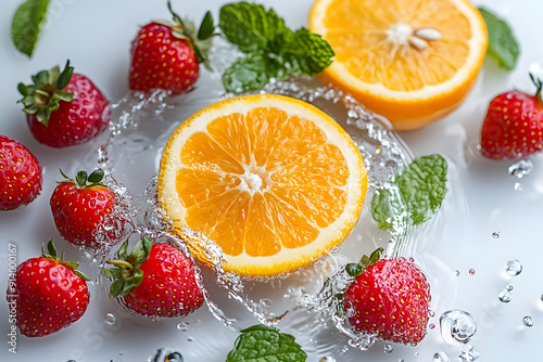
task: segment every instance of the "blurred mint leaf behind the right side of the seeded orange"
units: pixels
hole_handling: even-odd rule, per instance
[[[512,70],[517,64],[520,47],[510,26],[484,8],[479,8],[479,12],[489,29],[488,54],[497,61],[501,67]]]

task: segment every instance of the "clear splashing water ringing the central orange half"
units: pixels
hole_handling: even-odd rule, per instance
[[[222,66],[220,62],[213,64]],[[81,166],[99,166],[106,171],[108,183],[119,196],[122,206],[116,215],[122,221],[116,221],[115,224],[119,229],[116,234],[119,241],[128,238],[130,245],[134,245],[141,236],[147,235],[172,243],[188,254],[184,238],[166,232],[168,224],[155,198],[156,174],[162,151],[173,131],[194,112],[223,98],[231,96],[223,92],[217,74],[218,72],[204,73],[202,77],[206,79],[202,80],[201,87],[179,98],[171,99],[165,93],[156,92],[149,98],[129,94],[119,100],[113,106],[110,134],[99,140],[96,158],[81,159],[79,165],[74,166],[75,169]],[[440,228],[443,216],[438,214],[434,219],[417,229],[407,227],[406,222],[400,219],[394,231],[379,230],[369,212],[372,192],[378,186],[390,188],[390,178],[413,160],[413,155],[403,141],[389,130],[388,121],[368,112],[351,96],[337,89],[324,87],[316,80],[293,78],[274,81],[263,91],[313,103],[329,113],[351,134],[368,169],[367,203],[352,234],[327,258],[311,268],[291,273],[288,277],[266,281],[244,280],[226,273],[222,268],[220,248],[205,235],[184,230],[186,235],[201,241],[207,258],[215,266],[213,269],[198,269],[198,282],[205,292],[206,309],[224,327],[235,333],[256,323],[274,325],[294,334],[306,352],[315,359],[355,360],[357,353],[368,350],[376,344],[376,339],[354,331],[343,316],[341,301],[336,297],[349,283],[343,267],[381,246],[387,255],[409,258],[425,272],[425,267],[439,272],[447,271],[447,267],[440,260],[422,259],[414,253],[418,243],[427,243],[429,238],[439,237],[443,233]],[[453,174],[457,172],[453,163],[450,167]],[[451,180],[452,190],[443,206],[445,209],[456,205],[450,209],[451,212],[458,211],[458,204],[460,212],[463,211],[462,189],[456,185],[457,183]],[[393,189],[392,191],[395,192]],[[118,242],[104,237],[103,248],[98,254],[84,251],[100,267],[113,257],[117,248]],[[129,319],[131,323],[146,325],[151,331],[156,328],[153,323],[156,324],[157,321],[134,315],[122,300],[109,300],[109,281],[99,275],[99,268],[96,269],[92,277],[102,290],[102,302],[110,306],[104,319],[106,325],[112,328],[125,327],[123,321]],[[453,275],[453,272],[449,273]],[[469,273],[472,274],[473,271],[470,270]],[[433,275],[427,275],[432,285],[435,282]],[[433,290],[432,302],[439,303],[454,294],[454,285],[456,282],[451,279],[446,290]],[[201,336],[205,335],[199,326],[202,313],[204,312],[199,311],[193,319],[176,321],[171,326],[165,324],[172,328],[172,333],[179,333],[179,338],[195,344],[192,348],[198,349],[192,352],[194,355],[213,360],[209,355],[212,351],[203,347],[205,344],[201,340]],[[462,333],[467,332],[457,331],[453,338],[468,340],[469,337]],[[197,337],[193,337],[194,335]],[[393,347],[384,345],[383,350],[391,353]]]

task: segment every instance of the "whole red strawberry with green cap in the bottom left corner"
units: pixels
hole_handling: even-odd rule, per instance
[[[78,321],[89,305],[88,279],[77,263],[56,257],[53,241],[48,253],[17,267],[15,282],[8,284],[10,309],[16,305],[16,325],[27,337],[42,337]],[[13,306],[14,307],[14,306]]]

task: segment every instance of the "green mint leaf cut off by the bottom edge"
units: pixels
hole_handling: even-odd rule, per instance
[[[226,362],[304,362],[306,359],[307,354],[293,336],[254,325],[241,331]]]

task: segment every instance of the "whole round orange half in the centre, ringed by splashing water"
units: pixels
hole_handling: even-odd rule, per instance
[[[258,94],[220,101],[179,126],[164,150],[157,196],[177,228],[222,247],[226,271],[267,277],[339,245],[366,190],[362,155],[332,118],[303,101]]]

